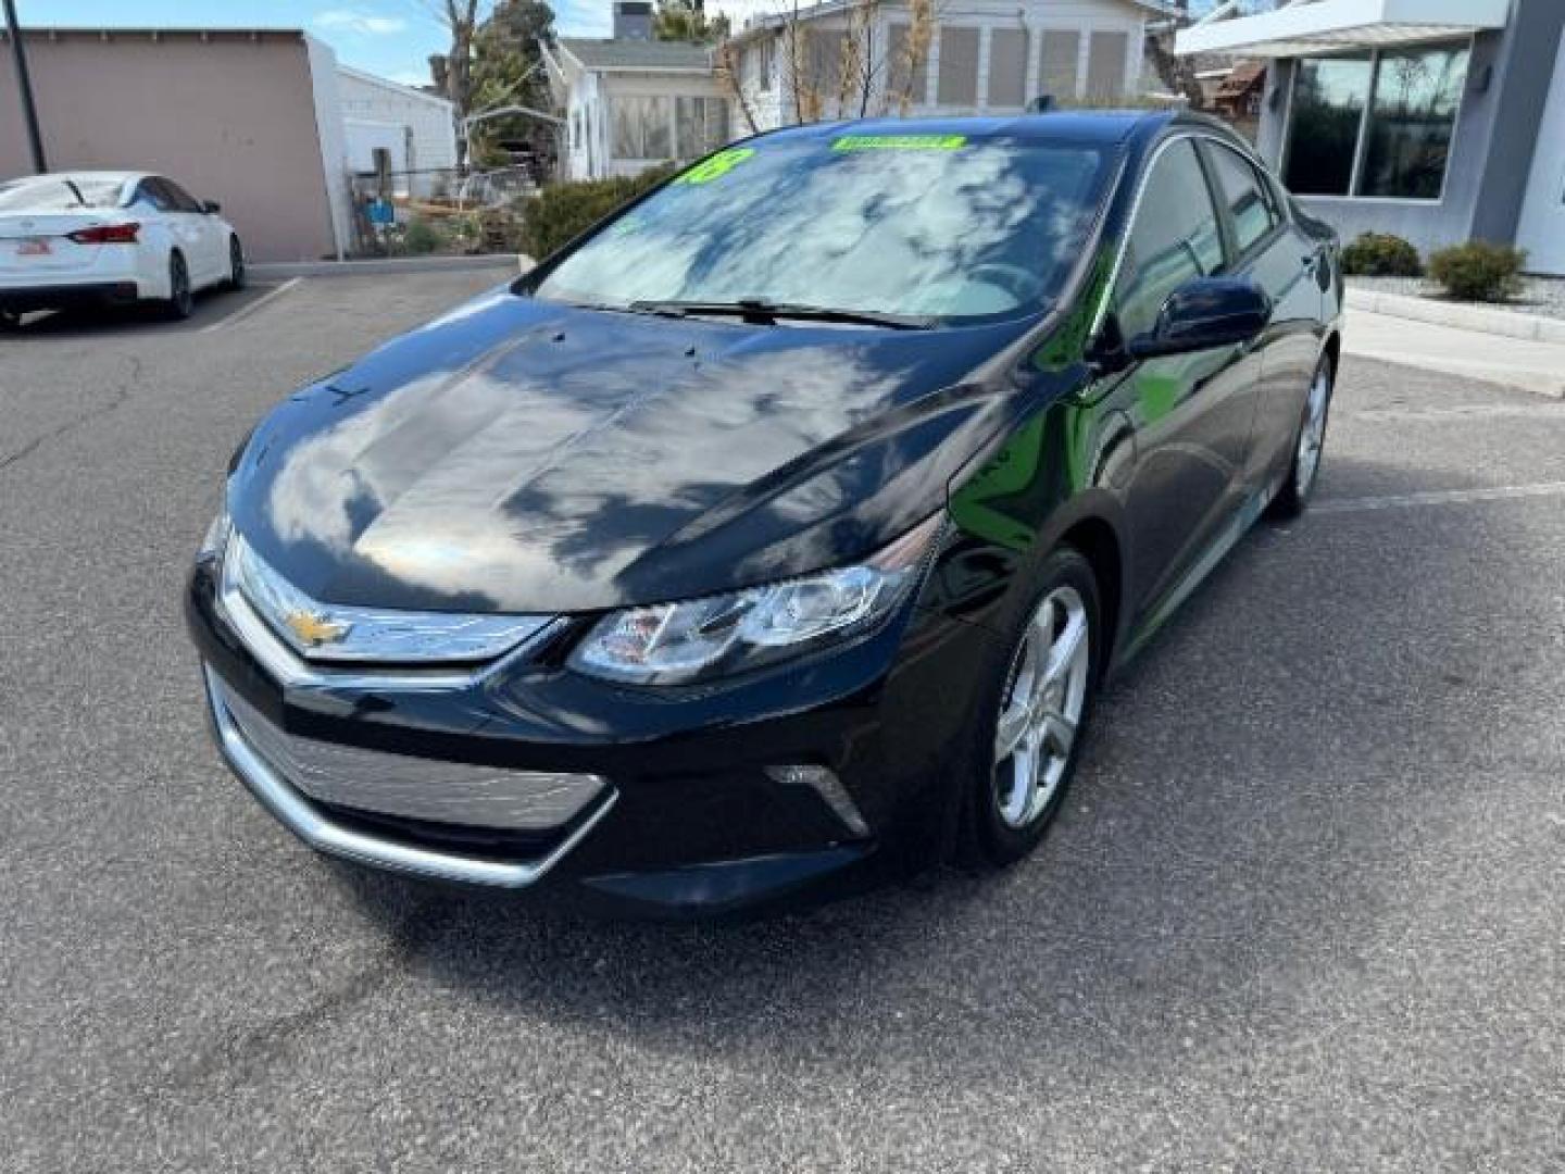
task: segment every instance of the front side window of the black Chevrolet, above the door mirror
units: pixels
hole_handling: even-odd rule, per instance
[[[1125,338],[1146,333],[1163,302],[1193,277],[1222,269],[1222,235],[1207,174],[1189,139],[1167,147],[1152,166],[1125,263],[1114,288],[1114,313]]]

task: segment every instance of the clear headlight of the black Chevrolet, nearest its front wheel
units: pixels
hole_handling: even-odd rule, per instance
[[[869,631],[908,598],[942,515],[856,567],[606,615],[571,668],[635,684],[679,684],[754,668]]]

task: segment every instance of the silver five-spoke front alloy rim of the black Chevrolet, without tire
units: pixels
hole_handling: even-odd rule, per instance
[[[1056,587],[1027,625],[995,723],[994,801],[1006,826],[1027,828],[1058,792],[1086,708],[1091,665],[1086,603],[1075,587]]]

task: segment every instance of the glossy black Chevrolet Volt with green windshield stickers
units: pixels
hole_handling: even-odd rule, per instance
[[[1341,302],[1218,122],[747,139],[260,423],[185,598],[218,744],[321,852],[549,900],[1005,866],[1305,507]]]

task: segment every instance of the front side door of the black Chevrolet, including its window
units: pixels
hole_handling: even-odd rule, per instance
[[[1116,329],[1125,340],[1150,332],[1169,294],[1229,265],[1207,169],[1182,135],[1150,164],[1114,286]],[[1236,512],[1260,373],[1247,346],[1224,346],[1133,363],[1113,391],[1136,434],[1127,510],[1142,617],[1177,603]]]

